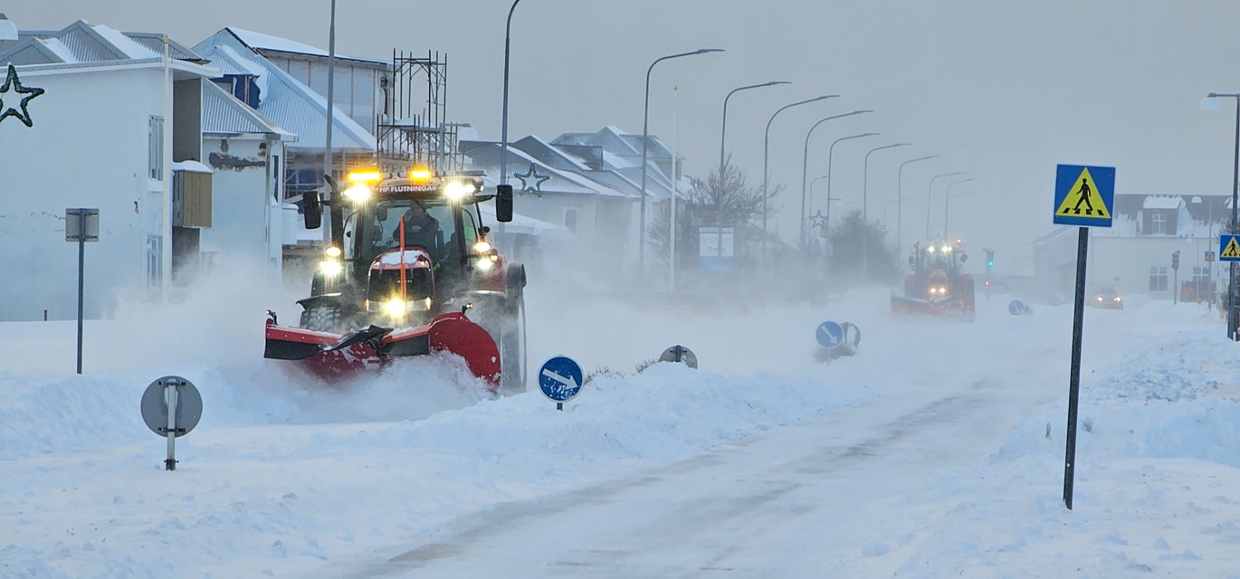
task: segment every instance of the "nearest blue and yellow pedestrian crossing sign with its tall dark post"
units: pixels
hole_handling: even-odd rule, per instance
[[[1076,466],[1076,402],[1080,397],[1081,335],[1085,320],[1085,263],[1089,228],[1111,227],[1115,167],[1059,165],[1055,169],[1055,210],[1060,226],[1080,226],[1076,236],[1076,303],[1073,307],[1073,361],[1068,378],[1068,444],[1064,453],[1064,505],[1073,508]]]

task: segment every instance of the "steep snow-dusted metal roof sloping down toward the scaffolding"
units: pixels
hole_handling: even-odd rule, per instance
[[[197,43],[193,50],[219,69],[254,74],[259,88],[258,113],[275,125],[298,135],[300,149],[322,149],[327,144],[327,99],[310,89],[280,67],[242,43],[229,29]],[[352,118],[332,107],[335,124],[332,149],[374,150],[374,135]]]

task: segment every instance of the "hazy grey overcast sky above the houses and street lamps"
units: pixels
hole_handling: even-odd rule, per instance
[[[448,115],[500,138],[507,0],[339,0],[336,51],[388,60],[392,50],[448,55]],[[166,31],[196,43],[223,26],[327,47],[329,0],[56,0],[5,12],[21,30],[76,19],[126,31]],[[862,206],[869,157],[870,219],[897,221],[905,166],[904,244],[924,237],[936,174],[966,171],[972,192],[951,202],[952,236],[980,253],[1032,255],[1052,229],[1056,164],[1116,167],[1117,192],[1230,195],[1235,103],[1199,110],[1208,92],[1240,92],[1240,2],[1233,0],[523,0],[512,20],[510,139],[590,131],[614,124],[641,133],[646,69],[698,47],[724,53],[661,62],[650,88],[650,131],[673,141],[691,174],[719,160],[724,97],[766,81],[792,84],[739,92],[728,103],[727,149],[754,183],[769,174],[789,187],[774,221],[796,228],[806,131],[808,179],[827,174],[839,136],[879,136],[836,146],[830,180],[836,214]],[[677,91],[673,94],[673,87]],[[942,229],[944,185],[934,187],[931,229]],[[827,180],[816,186],[812,214]],[[520,208],[518,208],[520,211]],[[884,214],[885,213],[885,214]],[[774,226],[773,226],[774,227]]]

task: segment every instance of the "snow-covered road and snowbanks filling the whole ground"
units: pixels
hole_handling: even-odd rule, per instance
[[[0,577],[1240,569],[1240,363],[1218,319],[1087,310],[1066,511],[1070,307],[1006,305],[951,324],[893,317],[880,294],[733,311],[532,294],[533,366],[567,353],[596,372],[563,412],[537,392],[479,400],[433,365],[306,388],[258,357],[258,314],[88,325],[81,377],[71,325],[11,325]],[[858,356],[816,361],[826,319],[862,327]],[[634,372],[673,343],[702,368]],[[172,472],[138,415],[169,373],[205,404]]]

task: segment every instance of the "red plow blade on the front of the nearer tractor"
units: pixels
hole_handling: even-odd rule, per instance
[[[310,373],[339,382],[358,372],[387,367],[399,357],[439,352],[464,358],[470,372],[491,391],[500,387],[500,350],[495,340],[460,312],[435,316],[424,326],[393,330],[372,325],[343,336],[279,326],[268,317],[263,357],[296,361]]]

